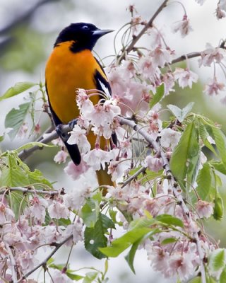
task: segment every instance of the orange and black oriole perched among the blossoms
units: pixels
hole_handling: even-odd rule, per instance
[[[76,88],[97,89],[105,93],[107,90],[109,94],[112,93],[105,71],[92,54],[97,40],[112,31],[101,30],[90,23],[71,23],[59,33],[45,69],[49,108],[56,126],[67,124],[78,117]],[[102,97],[92,96],[90,99],[95,105]],[[73,163],[81,163],[78,146],[67,144],[68,134],[59,135]],[[92,148],[95,146],[95,139],[94,134],[88,134]],[[102,149],[105,144],[106,141],[100,141]],[[113,184],[107,168],[105,171],[97,171],[97,179],[99,185]]]

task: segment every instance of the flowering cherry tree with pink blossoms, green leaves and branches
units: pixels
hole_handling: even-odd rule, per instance
[[[214,70],[203,88],[207,96],[225,90],[225,82],[215,72],[217,65],[225,69],[225,41],[216,47],[207,43],[201,52],[177,54],[155,26],[155,18],[170,2],[162,1],[149,21],[129,6],[131,21],[116,35],[121,36],[121,49],[115,47],[112,62],[105,68],[112,98],[100,91],[76,90],[80,116],[76,125],[64,125],[63,130],[71,134],[69,144],[78,144],[79,166],[69,160],[52,125],[40,134],[37,100],[42,100],[42,114],[52,122],[44,83],[16,83],[1,96],[3,100],[30,91],[25,103],[8,112],[5,127],[11,128],[11,139],[40,136],[1,153],[3,282],[37,282],[33,273],[41,268],[49,282],[107,282],[107,259],[127,250],[126,261],[135,273],[138,248],[146,251],[153,270],[167,278],[177,277],[177,282],[225,282],[225,249],[203,226],[203,219],[220,220],[223,215],[218,188],[226,175],[225,134],[209,117],[192,112],[192,101],[182,109],[172,104],[162,107],[175,86],[192,91],[197,83],[198,74],[189,66],[191,58],[198,60],[199,67]],[[196,2],[203,5],[205,1]],[[179,33],[183,41],[192,27],[182,7],[182,20],[172,24],[172,33]],[[225,13],[226,1],[216,2],[216,18],[225,18]],[[151,43],[137,47],[143,35]],[[184,68],[177,64],[182,61]],[[90,100],[94,95],[103,98],[97,105]],[[169,120],[162,118],[164,110],[171,113]],[[97,137],[94,149],[87,139],[89,131]],[[100,137],[108,140],[112,133],[117,134],[117,144],[100,149]],[[64,173],[74,180],[73,190],[52,185],[42,172],[26,165],[28,156],[48,146],[59,146],[54,161],[66,163]],[[206,156],[205,149],[213,158]],[[106,163],[115,185],[89,183],[89,176]],[[76,183],[81,176],[86,183]],[[121,236],[115,236],[117,230],[123,231]],[[95,258],[106,260],[104,271],[91,269],[81,275],[71,270],[71,250],[78,241]],[[57,265],[54,254],[62,246],[70,247],[68,260]],[[42,261],[37,259],[39,250],[45,254]]]

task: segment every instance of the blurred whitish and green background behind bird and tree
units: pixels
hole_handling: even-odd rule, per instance
[[[70,23],[88,22],[94,23],[99,28],[118,30],[124,23],[130,21],[129,11],[126,8],[129,4],[135,4],[136,10],[145,20],[149,20],[160,0],[1,0],[0,4],[0,95],[13,86],[18,81],[32,81],[44,83],[44,67],[47,57],[52,52],[52,46],[58,33]],[[164,34],[167,45],[171,50],[175,50],[176,57],[189,52],[199,52],[205,50],[206,42],[210,42],[214,47],[218,46],[220,40],[225,39],[226,19],[218,21],[215,17],[215,8],[218,1],[206,0],[203,6],[199,6],[196,1],[182,0],[186,8],[186,13],[194,29],[187,37],[182,38],[179,34],[172,33],[172,23],[181,21],[184,16],[182,5],[177,1],[165,8],[157,17],[155,25]],[[114,54],[113,47],[114,33],[103,37],[95,46],[95,52],[100,57],[107,57]],[[139,46],[149,46],[147,37],[138,43]],[[117,42],[118,49],[120,42]],[[105,60],[105,64],[108,61]],[[185,66],[182,63],[182,66]],[[208,97],[203,93],[203,84],[208,78],[213,77],[213,68],[199,68],[196,59],[189,61],[189,67],[195,71],[200,79],[196,86],[184,90],[176,88],[176,92],[167,96],[164,105],[169,103],[184,107],[190,101],[194,101],[194,112],[207,115],[210,119],[218,122],[226,130],[225,125],[225,105],[220,103],[220,98],[224,98],[225,93],[220,96]],[[216,69],[218,80],[225,83],[225,74],[222,70]],[[4,134],[4,119],[11,108],[17,108],[23,102],[28,93],[23,93],[14,98],[1,101],[0,104],[0,135]],[[41,132],[48,127],[47,117],[42,116]],[[30,140],[32,137],[30,138]],[[8,137],[1,143],[1,150],[15,149],[25,144],[26,139],[14,139],[10,141]],[[36,152],[28,158],[30,168],[38,168],[49,180],[56,181],[55,187],[76,187],[76,183],[69,180],[64,174],[63,166],[53,163],[53,157],[57,149],[44,149]],[[222,194],[225,194],[222,187]],[[220,238],[222,246],[225,246],[226,233],[225,220],[210,224],[207,227],[208,233],[214,238]],[[211,228],[210,228],[211,227]],[[65,251],[68,251],[65,249]],[[66,255],[67,253],[65,253]],[[40,255],[43,256],[43,255]],[[57,255],[58,262],[63,262],[64,253]],[[104,269],[104,262],[96,260],[84,251],[82,245],[78,245],[73,253],[73,268],[83,266],[93,266]],[[126,261],[121,256],[116,260],[109,260],[109,282],[174,282],[161,278],[159,274],[150,268],[150,262],[146,260],[146,254],[141,250],[135,260],[136,275],[131,274],[131,270]],[[39,282],[42,282],[40,280]]]

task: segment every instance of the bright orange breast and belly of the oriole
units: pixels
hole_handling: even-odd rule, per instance
[[[62,42],[54,47],[45,70],[49,102],[59,120],[64,124],[79,115],[76,105],[76,88],[95,89],[95,72],[105,74],[90,50],[73,53],[72,42]],[[107,79],[107,78],[106,78]],[[92,97],[93,103],[99,100]]]

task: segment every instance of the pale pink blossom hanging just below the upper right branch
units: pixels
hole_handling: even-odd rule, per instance
[[[191,88],[192,83],[198,81],[198,75],[189,69],[176,68],[173,74],[174,78],[178,80],[179,86],[182,88],[186,86]]]

